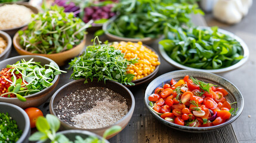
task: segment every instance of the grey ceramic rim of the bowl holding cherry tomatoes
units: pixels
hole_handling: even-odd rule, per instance
[[[226,80],[226,82],[230,83],[230,85],[234,86],[234,88],[236,88],[239,92],[239,97],[242,100],[241,102],[241,106],[239,107],[238,112],[236,113],[235,116],[233,116],[232,119],[227,120],[226,122],[220,124],[220,125],[216,125],[216,126],[210,126],[210,127],[190,127],[190,126],[181,126],[181,125],[177,125],[175,123],[171,123],[168,122],[164,119],[162,119],[158,114],[156,114],[154,111],[152,111],[149,107],[149,105],[147,104],[148,97],[149,95],[147,95],[147,92],[149,91],[149,86],[152,85],[153,83],[157,82],[161,77],[165,77],[165,76],[169,76],[170,74],[174,74],[174,73],[179,73],[179,72],[183,72],[184,74],[188,74],[189,72],[197,72],[197,73],[202,73],[202,74],[208,74],[211,76],[215,76],[215,77],[220,77],[221,79]],[[166,79],[167,80],[167,79]],[[170,79],[168,79],[170,80]],[[144,105],[146,106],[147,110],[150,111],[150,113],[153,114],[153,116],[158,119],[161,123],[164,123],[166,126],[169,126],[173,129],[177,129],[177,130],[181,130],[181,131],[185,131],[185,132],[208,132],[208,131],[212,131],[212,130],[216,130],[219,128],[222,128],[226,125],[229,125],[230,123],[234,122],[236,119],[238,119],[238,117],[240,116],[240,114],[243,111],[243,105],[244,105],[244,100],[243,100],[243,96],[241,94],[241,92],[239,91],[239,89],[229,80],[225,79],[224,77],[218,76],[217,74],[214,73],[208,73],[208,72],[204,72],[204,71],[196,71],[196,70],[176,70],[176,71],[170,71],[168,73],[162,74],[161,76],[156,77],[152,82],[149,83],[149,85],[146,88],[145,94],[144,94]]]

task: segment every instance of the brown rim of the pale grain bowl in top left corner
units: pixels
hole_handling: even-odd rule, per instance
[[[1,5],[5,5],[5,4],[9,4],[9,5],[17,4],[17,5],[23,5],[25,7],[26,6],[33,7],[33,8],[35,8],[35,10],[37,10],[37,13],[34,13],[31,10],[31,8],[29,8],[29,7],[26,7],[26,8],[29,8],[34,14],[40,13],[40,10],[37,7],[34,7],[33,5],[30,5],[29,2],[24,2],[24,0],[23,1],[17,1],[17,2],[4,2],[4,3],[0,4],[0,7],[1,7]],[[27,23],[27,24],[29,24],[29,23]],[[21,29],[22,27],[27,26],[27,24],[23,24],[22,26],[10,28],[10,29],[0,29],[0,30],[8,32],[8,31],[11,31],[11,30]]]

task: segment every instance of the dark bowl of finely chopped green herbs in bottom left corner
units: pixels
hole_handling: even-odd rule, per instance
[[[0,102],[0,127],[0,142],[29,142],[29,116],[17,105]]]

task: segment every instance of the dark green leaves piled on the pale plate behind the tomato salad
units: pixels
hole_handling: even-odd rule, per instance
[[[170,28],[168,39],[159,43],[166,54],[184,66],[196,69],[221,69],[243,58],[242,46],[236,39],[218,32],[218,27]]]

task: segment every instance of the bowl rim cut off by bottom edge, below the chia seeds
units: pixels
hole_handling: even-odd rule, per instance
[[[75,137],[76,136],[81,136],[83,139],[88,138],[89,136],[95,136],[98,139],[103,139],[101,136],[96,135],[95,133],[92,132],[88,132],[86,130],[64,130],[61,132],[57,132],[58,134],[63,134],[64,136],[66,136],[70,141],[75,141]],[[46,141],[38,141],[37,143],[50,143],[50,139],[47,139]],[[106,143],[109,143],[109,141],[107,141],[105,139]]]

